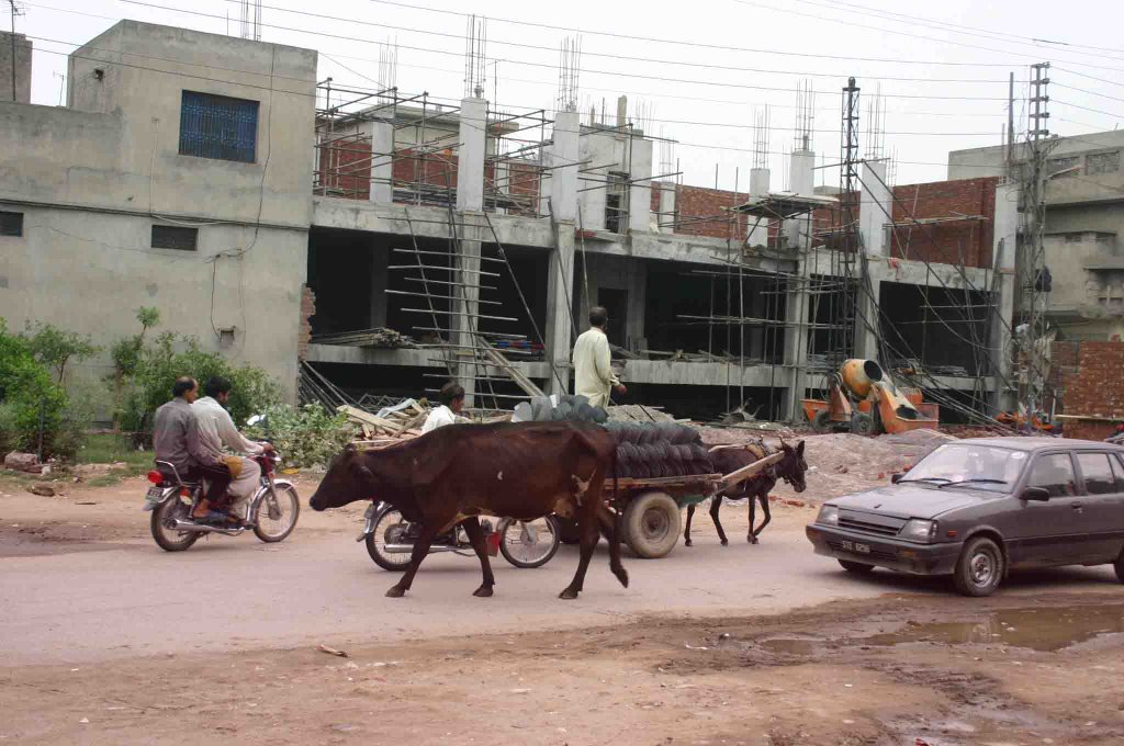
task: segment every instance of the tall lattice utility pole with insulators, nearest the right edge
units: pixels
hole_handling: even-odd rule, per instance
[[[1046,306],[1049,303],[1050,274],[1045,263],[1043,236],[1046,222],[1046,157],[1057,146],[1050,137],[1050,79],[1049,62],[1031,65],[1031,113],[1026,130],[1027,162],[1023,172],[1023,251],[1019,262],[1021,316],[1016,329],[1023,339],[1023,361],[1019,401],[1027,422],[1042,409],[1045,388]],[[1018,361],[1016,361],[1016,364]]]

